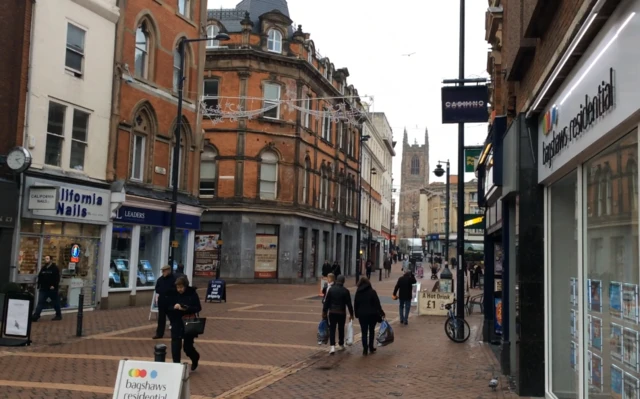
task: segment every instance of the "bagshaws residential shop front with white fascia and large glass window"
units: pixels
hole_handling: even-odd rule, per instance
[[[618,6],[539,120],[549,398],[639,397],[639,15]]]

